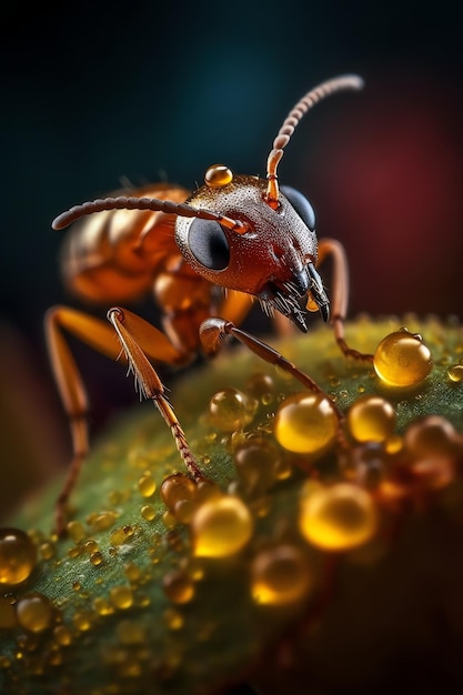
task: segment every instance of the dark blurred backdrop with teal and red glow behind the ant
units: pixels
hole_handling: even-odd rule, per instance
[[[316,107],[279,172],[312,200],[319,235],[345,245],[351,315],[463,311],[457,3],[120,7],[2,10],[0,465],[19,491],[69,455],[42,318],[77,303],[62,290],[51,220],[121,179],[194,188],[214,162],[264,174],[283,118],[325,78],[358,72],[366,88]],[[134,401],[133,386],[120,365],[76,351],[98,430]]]

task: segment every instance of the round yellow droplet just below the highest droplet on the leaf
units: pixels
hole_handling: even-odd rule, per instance
[[[358,442],[384,442],[395,429],[395,411],[378,395],[364,395],[348,412],[348,426]]]

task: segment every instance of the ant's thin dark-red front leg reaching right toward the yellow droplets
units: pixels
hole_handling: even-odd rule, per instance
[[[254,352],[259,357],[262,357],[265,362],[270,362],[270,364],[280,366],[282,370],[294,376],[294,379],[300,381],[306,389],[313,391],[314,393],[322,394],[329,399],[330,402],[332,402],[330,396],[324,393],[322,389],[320,389],[319,384],[313,379],[304,372],[301,372],[295,364],[283,357],[278,350],[274,350],[258,338],[254,338],[250,333],[236,328],[231,321],[212,318],[203,321],[201,324],[200,339],[202,346],[208,354],[214,354],[220,349],[221,342],[227,335],[233,335],[233,338],[243,343],[243,345],[246,345],[246,348],[252,350],[252,352]],[[332,403],[332,405],[338,420],[342,422],[344,420],[342,411],[335,403]]]

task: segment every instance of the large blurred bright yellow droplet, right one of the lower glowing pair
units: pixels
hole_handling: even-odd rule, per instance
[[[351,483],[338,483],[303,494],[299,524],[313,545],[349,551],[373,537],[378,513],[370,493]]]

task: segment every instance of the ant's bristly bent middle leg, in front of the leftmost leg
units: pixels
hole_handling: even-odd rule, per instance
[[[191,477],[195,481],[204,477],[191,452],[180,422],[164,395],[164,386],[140,344],[142,336],[148,338],[151,335],[154,340],[158,335],[161,335],[164,340],[165,336],[161,331],[127,309],[119,306],[110,309],[108,320],[114,326],[142,394],[154,403],[164,422],[170,427],[179,453]]]

